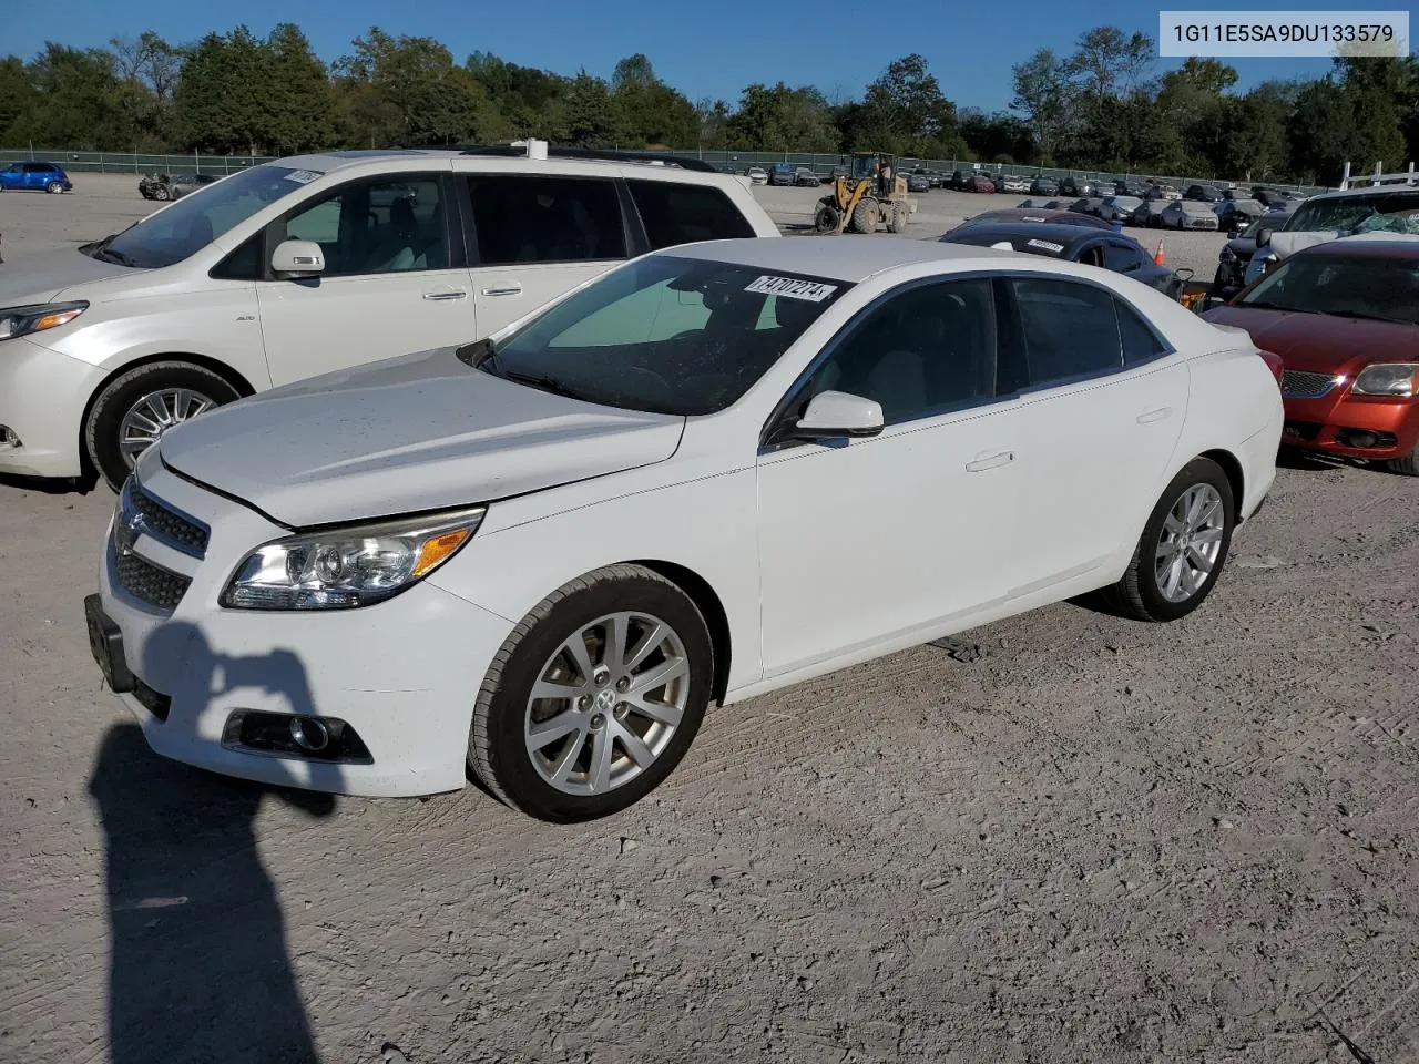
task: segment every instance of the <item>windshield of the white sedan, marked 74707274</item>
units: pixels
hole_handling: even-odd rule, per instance
[[[678,255],[604,274],[481,352],[481,369],[589,403],[712,414],[850,284]]]

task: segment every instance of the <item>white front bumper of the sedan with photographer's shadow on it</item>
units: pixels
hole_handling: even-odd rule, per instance
[[[217,596],[245,552],[285,529],[160,467],[150,472],[153,465],[143,470],[146,491],[211,529],[200,560],[149,533],[132,543],[139,558],[190,579],[172,610],[125,590],[111,538],[102,545],[99,604],[143,685],[121,698],[153,750],[228,776],[342,794],[463,787],[473,704],[512,623],[429,582],[356,610],[221,609]],[[369,762],[241,746],[228,731],[238,712],[336,718],[355,729]]]

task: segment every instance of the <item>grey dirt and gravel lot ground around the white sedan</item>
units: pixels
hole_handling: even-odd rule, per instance
[[[715,711],[573,829],[149,753],[112,502],[0,484],[0,1061],[1419,1061],[1419,481],[1293,464],[1192,617]]]

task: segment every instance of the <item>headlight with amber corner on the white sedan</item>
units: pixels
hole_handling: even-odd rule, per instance
[[[241,560],[220,602],[236,610],[341,610],[383,602],[453,558],[485,512],[477,506],[272,541]]]

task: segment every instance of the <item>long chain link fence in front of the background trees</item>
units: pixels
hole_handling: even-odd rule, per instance
[[[688,159],[702,159],[721,170],[728,173],[744,173],[751,166],[769,167],[773,163],[789,163],[792,166],[806,166],[819,174],[820,179],[829,177],[834,167],[841,167],[849,165],[850,159],[840,153],[813,153],[813,152],[735,152],[735,150],[711,150],[711,149],[677,149],[671,155],[688,157]],[[214,174],[228,174],[237,170],[244,170],[250,166],[258,166],[260,163],[272,162],[265,156],[241,156],[241,155],[143,155],[139,152],[60,152],[50,149],[0,149],[0,166],[9,166],[14,162],[30,162],[43,160],[53,162],[62,166],[65,170],[72,173],[214,173]],[[901,173],[910,173],[912,169],[921,167],[925,170],[932,170],[937,173],[951,174],[955,170],[964,173],[971,173],[973,170],[981,170],[982,173],[1002,173],[1013,174],[1032,180],[1037,174],[1046,174],[1050,177],[1074,177],[1074,179],[1090,179],[1095,182],[1117,182],[1117,180],[1148,180],[1154,179],[1164,184],[1172,184],[1175,189],[1182,192],[1189,184],[1213,184],[1218,182],[1215,177],[1176,177],[1165,176],[1158,173],[1118,173],[1114,170],[1069,170],[1056,167],[1040,167],[1040,166],[1015,166],[1010,163],[981,163],[975,159],[911,159],[902,156],[897,160],[898,170]],[[1301,196],[1314,196],[1318,192],[1327,192],[1325,189],[1314,186],[1301,184],[1286,184],[1281,182],[1237,182],[1239,186],[1249,187],[1249,184],[1264,184],[1269,189],[1284,189],[1287,192],[1296,192]]]

